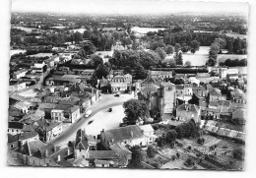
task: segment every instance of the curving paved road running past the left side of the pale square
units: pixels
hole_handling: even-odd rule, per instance
[[[68,144],[69,141],[74,141],[77,130],[83,127],[87,122],[96,115],[97,112],[107,109],[109,107],[123,104],[123,102],[133,98],[132,94],[120,94],[119,97],[115,97],[113,94],[101,94],[100,98],[94,105],[92,105],[92,114],[89,118],[85,118],[85,114],[81,114],[80,118],[72,124],[66,131],[64,131],[59,137],[49,142],[56,146],[62,146]],[[99,134],[99,133],[98,133]]]

